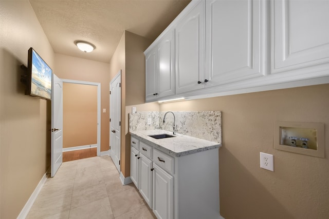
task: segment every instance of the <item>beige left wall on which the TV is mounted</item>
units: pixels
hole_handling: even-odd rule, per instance
[[[0,1],[0,218],[16,218],[50,161],[49,101],[24,95],[20,65],[54,53],[28,1]]]

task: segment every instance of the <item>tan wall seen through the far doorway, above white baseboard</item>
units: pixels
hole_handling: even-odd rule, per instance
[[[63,83],[63,148],[96,144],[97,86]]]

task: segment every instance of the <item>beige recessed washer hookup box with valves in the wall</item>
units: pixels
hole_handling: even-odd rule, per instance
[[[324,157],[324,124],[275,123],[274,148],[293,153]]]

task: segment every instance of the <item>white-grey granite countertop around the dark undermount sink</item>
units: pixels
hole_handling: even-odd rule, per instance
[[[143,142],[149,144],[153,148],[159,149],[160,151],[168,153],[172,156],[184,156],[201,151],[219,148],[222,146],[220,143],[210,142],[207,140],[182,134],[176,134],[175,137],[168,137],[162,139],[155,139],[149,136],[156,134],[173,135],[173,133],[170,131],[159,129],[130,131],[130,134],[138,138],[139,140],[142,140]]]

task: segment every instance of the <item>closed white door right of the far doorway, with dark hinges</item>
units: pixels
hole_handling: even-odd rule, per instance
[[[121,143],[121,70],[109,84],[109,145],[112,160],[120,172],[120,143]]]

